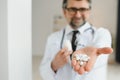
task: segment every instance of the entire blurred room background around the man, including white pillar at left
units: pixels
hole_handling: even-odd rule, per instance
[[[120,80],[120,1],[92,0],[89,21],[111,32],[107,78]],[[64,25],[62,0],[0,0],[0,80],[42,80],[47,37]]]

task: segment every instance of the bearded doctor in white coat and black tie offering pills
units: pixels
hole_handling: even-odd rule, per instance
[[[91,0],[63,0],[62,7],[68,25],[48,37],[40,65],[43,80],[106,80],[111,35],[107,29],[97,29],[87,21]],[[66,40],[71,41],[72,51],[64,47]],[[80,65],[73,58],[76,54],[90,59]]]

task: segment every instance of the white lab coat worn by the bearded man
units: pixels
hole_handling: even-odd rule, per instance
[[[80,34],[77,35],[77,49],[85,46],[94,47],[111,47],[111,35],[107,29],[96,29],[86,22],[79,29]],[[65,28],[63,44],[66,39],[71,40],[73,29],[68,25]],[[48,37],[45,54],[40,64],[40,73],[43,80],[106,80],[106,68],[108,55],[100,55],[93,69],[83,75],[77,74],[71,67],[70,61],[60,68],[57,73],[51,68],[51,61],[60,50],[63,30],[53,33]]]

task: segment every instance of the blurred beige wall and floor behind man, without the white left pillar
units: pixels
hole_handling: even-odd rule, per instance
[[[39,64],[43,57],[46,40],[49,34],[66,24],[62,13],[62,0],[33,0],[32,6],[32,55],[33,80],[42,80],[39,75]],[[116,62],[116,34],[118,27],[118,0],[92,0],[90,22],[97,27],[109,29],[114,48],[109,56],[108,80],[119,80],[120,65]],[[120,58],[120,55],[119,55]]]

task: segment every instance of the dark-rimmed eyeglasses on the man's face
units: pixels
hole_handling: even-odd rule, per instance
[[[77,11],[79,11],[80,13],[85,13],[87,11],[90,10],[90,8],[74,8],[74,7],[71,7],[71,8],[66,8],[66,10],[68,10],[68,12],[70,12],[70,14],[76,14]]]

